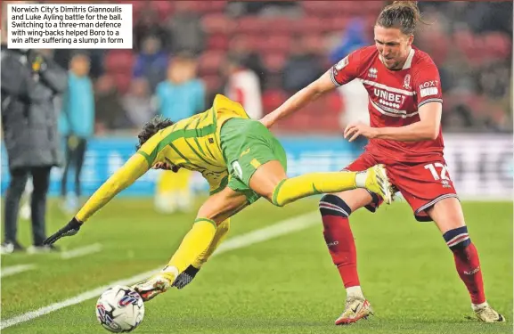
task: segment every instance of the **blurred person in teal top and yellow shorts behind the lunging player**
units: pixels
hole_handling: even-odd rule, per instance
[[[169,62],[167,80],[161,82],[156,91],[159,115],[178,122],[205,109],[206,90],[197,77],[197,67],[198,61],[191,53],[180,53]],[[192,172],[184,168],[177,173],[162,171],[157,183],[155,208],[163,213],[191,211],[192,177]]]

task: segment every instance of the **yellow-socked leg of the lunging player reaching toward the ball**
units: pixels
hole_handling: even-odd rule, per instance
[[[135,285],[135,290],[147,301],[169,289],[177,276],[198,259],[205,257],[216,242],[217,225],[248,206],[247,197],[229,187],[210,196],[202,205],[192,229],[184,236],[167,266],[150,279]],[[226,231],[222,231],[224,233]],[[220,236],[221,239],[221,236]],[[219,242],[218,242],[219,243]],[[216,247],[216,245],[213,245]]]

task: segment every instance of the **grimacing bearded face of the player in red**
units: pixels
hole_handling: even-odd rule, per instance
[[[407,36],[400,29],[375,26],[375,45],[381,61],[388,69],[401,69],[411,51],[413,36]]]

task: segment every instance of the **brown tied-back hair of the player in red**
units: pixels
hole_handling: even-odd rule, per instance
[[[376,25],[383,28],[397,28],[404,35],[413,35],[418,22],[421,20],[417,1],[395,1],[382,10]]]

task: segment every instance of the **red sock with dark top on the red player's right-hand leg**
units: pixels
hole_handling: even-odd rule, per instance
[[[462,226],[445,232],[446,244],[453,252],[455,267],[461,280],[468,288],[471,303],[485,302],[484,280],[475,245],[469,239],[468,228]]]

